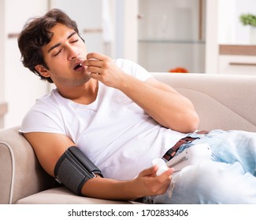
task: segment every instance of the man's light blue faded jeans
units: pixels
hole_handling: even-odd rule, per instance
[[[256,204],[256,133],[212,130],[191,134],[199,138],[180,146],[208,143],[211,160],[173,174],[167,192],[147,196],[144,203],[254,203]]]

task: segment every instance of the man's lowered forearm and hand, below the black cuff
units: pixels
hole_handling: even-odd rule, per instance
[[[83,185],[83,195],[105,200],[135,200],[143,196],[156,196],[166,192],[174,170],[170,168],[156,176],[158,167],[150,167],[129,181],[92,178]]]

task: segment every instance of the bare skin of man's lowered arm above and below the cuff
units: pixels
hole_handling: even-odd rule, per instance
[[[24,136],[34,148],[39,163],[51,176],[54,176],[54,167],[66,148],[75,145],[63,134],[32,132]],[[127,181],[97,176],[83,185],[82,193],[83,196],[106,200],[135,200],[142,196],[160,195],[168,189],[173,169],[160,176],[156,176],[156,171],[157,167],[150,167]]]

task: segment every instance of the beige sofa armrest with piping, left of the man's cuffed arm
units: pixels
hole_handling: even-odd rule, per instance
[[[16,203],[54,186],[19,128],[0,131],[0,203]]]

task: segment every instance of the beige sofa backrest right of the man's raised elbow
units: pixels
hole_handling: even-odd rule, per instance
[[[199,129],[256,131],[256,75],[153,75],[193,102],[200,117]]]

